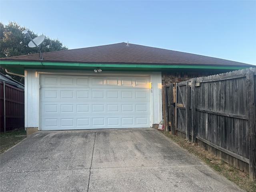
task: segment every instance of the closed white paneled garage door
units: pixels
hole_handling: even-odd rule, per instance
[[[41,75],[41,130],[150,127],[149,76]]]

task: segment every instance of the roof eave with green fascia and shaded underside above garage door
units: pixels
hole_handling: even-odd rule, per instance
[[[156,70],[166,71],[172,69],[205,69],[205,70],[239,70],[249,68],[250,65],[209,65],[209,64],[144,64],[144,63],[78,63],[78,62],[43,62],[43,61],[11,61],[0,60],[3,68],[13,71],[18,74],[24,74],[26,68],[48,69],[65,67],[69,70],[91,70],[94,67],[101,67],[111,70]]]

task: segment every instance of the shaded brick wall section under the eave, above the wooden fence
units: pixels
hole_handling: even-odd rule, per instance
[[[211,72],[162,72],[162,84],[170,82],[182,82],[195,77],[213,75]]]

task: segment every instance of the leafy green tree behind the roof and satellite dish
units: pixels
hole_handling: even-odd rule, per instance
[[[25,35],[22,34],[22,31],[25,29],[26,27],[22,27],[16,22],[9,22],[8,25],[4,25],[2,22],[0,22],[1,58],[38,53],[38,49],[28,47],[30,39],[26,38]],[[38,36],[33,31],[30,31],[29,34],[32,39]],[[47,36],[42,44],[41,52],[52,52],[67,49],[68,48],[64,46],[58,39],[51,39]],[[1,73],[6,74],[5,69],[1,68]],[[19,82],[24,82],[18,76],[10,76]]]

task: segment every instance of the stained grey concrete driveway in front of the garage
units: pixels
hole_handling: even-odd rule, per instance
[[[237,192],[155,129],[39,131],[0,155],[1,192]]]

